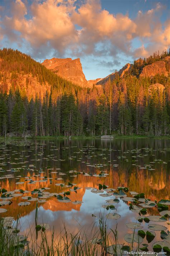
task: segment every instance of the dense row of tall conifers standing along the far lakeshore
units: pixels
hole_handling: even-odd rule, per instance
[[[161,79],[161,78],[160,78]],[[79,136],[170,133],[170,79],[165,89],[134,76],[109,81],[105,87],[70,89],[52,100],[53,91],[28,101],[19,90],[0,93],[0,134]]]

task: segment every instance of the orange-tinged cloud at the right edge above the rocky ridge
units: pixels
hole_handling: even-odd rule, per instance
[[[165,6],[157,3],[155,9],[148,10],[146,13],[138,12],[135,19],[138,28],[135,37],[141,39],[142,45],[134,50],[134,57],[147,57],[153,52],[170,47],[170,19],[163,25],[159,19],[164,8]]]

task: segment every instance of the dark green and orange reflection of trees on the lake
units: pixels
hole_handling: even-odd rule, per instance
[[[54,143],[51,143],[54,142]],[[76,147],[75,147],[76,146]],[[92,147],[93,146],[93,147]],[[132,163],[136,163],[137,165],[149,164],[153,162],[155,158],[161,159],[167,162],[169,157],[169,152],[161,153],[159,149],[164,149],[170,147],[168,144],[168,140],[112,140],[112,141],[100,141],[98,140],[35,140],[33,145],[21,146],[18,147],[13,145],[8,145],[6,148],[11,147],[11,151],[7,151],[7,154],[10,155],[10,162],[16,162],[14,158],[16,155],[13,155],[12,151],[20,151],[19,156],[22,155],[22,159],[19,161],[23,161],[24,159],[28,159],[29,163],[27,164],[36,164],[36,169],[39,170],[41,167],[42,170],[45,170],[45,173],[42,173],[41,176],[46,175],[47,177],[53,177],[53,183],[49,184],[48,182],[38,182],[36,184],[28,184],[25,182],[24,184],[16,185],[14,178],[1,180],[1,187],[6,188],[8,191],[13,191],[14,189],[23,189],[32,191],[35,188],[39,187],[50,187],[51,193],[56,192],[59,193],[61,191],[68,191],[69,188],[60,188],[55,186],[55,183],[68,182],[76,183],[79,187],[98,187],[99,183],[108,185],[111,188],[116,188],[118,186],[127,186],[131,191],[137,191],[138,193],[145,193],[146,198],[150,198],[151,200],[157,199],[167,199],[167,195],[169,194],[169,162],[168,164],[155,164],[155,170],[148,169],[140,169],[140,167],[136,167],[132,165]],[[67,147],[68,149],[65,149]],[[132,162],[132,155],[139,155],[140,153],[146,154],[145,150],[139,151],[139,153],[132,154],[131,152],[126,153],[128,150],[132,149],[140,149],[140,148],[152,148],[156,151],[152,150],[148,152],[148,155],[144,158],[137,158],[138,162]],[[58,149],[58,150],[51,150]],[[83,154],[82,149],[86,150],[86,154]],[[101,150],[106,149],[106,150]],[[111,149],[109,151],[109,149]],[[32,150],[32,152],[29,152]],[[119,150],[119,151],[118,151]],[[23,152],[22,152],[23,151]],[[77,154],[80,152],[80,154]],[[103,156],[99,154],[104,154]],[[40,154],[40,155],[39,155]],[[155,154],[156,156],[152,156]],[[25,158],[25,156],[30,155],[30,157]],[[51,156],[49,156],[51,155]],[[86,158],[86,155],[96,155],[90,159]],[[126,156],[129,159],[129,162],[126,162],[124,159],[118,159],[117,156]],[[49,157],[51,158],[49,158]],[[71,156],[76,156],[73,160],[69,160],[68,158]],[[82,160],[77,161],[80,157]],[[103,158],[107,159],[103,159]],[[48,158],[44,159],[44,158]],[[40,159],[40,161],[31,161],[31,159]],[[57,160],[57,161],[54,161]],[[60,161],[59,159],[65,159],[65,161]],[[135,158],[134,158],[135,159]],[[116,162],[111,162],[111,166],[107,165],[104,168],[94,168],[86,166],[85,162],[88,161],[91,165],[96,163],[100,164],[108,164],[108,160],[117,160]],[[136,160],[136,159],[135,159]],[[110,164],[110,162],[109,162]],[[113,167],[113,164],[119,164],[118,167]],[[12,167],[21,167],[23,164],[13,165]],[[85,177],[82,174],[77,177],[69,177],[70,174],[65,176],[59,176],[58,174],[49,174],[51,170],[47,170],[46,167],[51,166],[51,168],[61,168],[61,172],[67,172],[70,170],[76,170],[80,172],[92,172],[99,173],[100,170],[105,170],[109,173],[109,176],[105,178],[99,177]],[[8,164],[5,169],[11,168],[11,165]],[[60,170],[57,170],[60,172]],[[4,173],[3,173],[4,174]],[[32,171],[23,171],[13,173],[14,176],[24,175],[31,176],[37,175],[38,172]],[[55,180],[56,177],[62,177],[63,180]],[[38,180],[39,178],[34,177],[34,180]],[[24,178],[21,179],[23,181]],[[77,190],[77,194],[72,192],[69,196],[71,200],[80,200],[83,201],[83,196],[85,193],[85,189]],[[30,194],[24,194],[30,195]],[[3,208],[7,208],[8,211],[4,214],[4,216],[14,216],[16,217],[18,213],[21,216],[27,215],[31,211],[33,211],[36,207],[35,202],[31,202],[31,204],[27,207],[19,207],[18,203],[21,201],[21,198],[16,197],[12,200],[13,204],[11,206],[4,206]],[[75,209],[76,211],[80,210],[81,205],[74,205],[71,203],[60,203],[56,198],[47,199],[46,203],[40,204],[44,209],[51,209],[52,211],[71,211],[71,209]],[[149,212],[154,212],[154,209],[148,209]],[[3,215],[2,215],[3,216]]]

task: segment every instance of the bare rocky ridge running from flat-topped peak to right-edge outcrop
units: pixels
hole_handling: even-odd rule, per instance
[[[83,87],[92,87],[93,85],[105,85],[109,79],[113,81],[118,74],[122,78],[126,72],[132,73],[135,65],[140,66],[143,63],[143,59],[137,59],[134,64],[126,63],[119,71],[113,72],[104,78],[96,78],[91,80],[86,80],[84,72],[82,70],[82,65],[80,58],[52,58],[46,59],[42,63],[47,69],[51,69],[53,72],[57,72],[62,78],[71,81],[72,83],[78,84]],[[136,67],[135,67],[136,69]],[[152,77],[156,74],[164,74],[168,76],[170,72],[170,56],[166,56],[164,59],[155,61],[154,63],[145,65],[140,68],[140,76]]]

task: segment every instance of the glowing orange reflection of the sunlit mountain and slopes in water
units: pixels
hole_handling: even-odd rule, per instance
[[[81,167],[79,166],[79,170]],[[147,170],[140,170],[136,171],[136,169],[132,169],[131,173],[128,173],[126,169],[119,168],[118,170],[115,170],[114,168],[110,169],[106,168],[109,175],[105,178],[103,178],[103,183],[108,185],[110,188],[116,188],[118,186],[127,186],[131,191],[137,191],[138,193],[145,193],[146,198],[150,198],[151,200],[160,200],[160,199],[168,199],[168,191],[170,189],[169,184],[167,183],[166,186],[164,185],[167,181],[166,178],[166,172],[165,171],[159,171],[155,170],[154,173],[149,172]],[[88,170],[89,171],[89,170]],[[99,170],[98,170],[99,171]],[[95,172],[98,172],[95,169]],[[161,172],[161,173],[160,173]],[[47,171],[47,176],[49,171]],[[33,175],[33,173],[28,172],[27,175]],[[51,177],[55,179],[56,175],[53,174]],[[5,187],[8,191],[13,191],[14,189],[23,189],[27,191],[32,191],[35,188],[39,187],[50,187],[49,191],[50,193],[60,193],[61,191],[69,191],[69,188],[61,188],[60,186],[55,186],[55,183],[65,182],[65,184],[68,184],[70,179],[65,175],[62,176],[63,180],[55,180],[53,181],[53,184],[49,184],[48,182],[38,182],[37,184],[28,184],[25,182],[24,184],[16,185],[14,179],[10,180],[2,180],[2,187]],[[78,178],[78,181],[77,181]],[[38,180],[37,177],[34,178],[35,180]],[[24,180],[24,179],[23,179]],[[82,174],[78,177],[74,177],[71,181],[73,183],[76,183],[79,187],[82,187],[81,189],[77,190],[77,193],[71,192],[71,195],[69,198],[71,201],[79,200],[83,201],[85,189],[84,187],[98,187],[98,184],[101,183],[101,178],[99,177],[90,177],[90,176],[83,176]],[[164,186],[163,186],[163,185]],[[159,189],[157,189],[159,188]],[[25,195],[31,195],[24,194]],[[34,196],[33,196],[34,197]],[[108,198],[106,198],[108,199]],[[3,208],[8,209],[6,213],[4,213],[4,216],[17,216],[17,214],[20,213],[20,216],[28,215],[30,212],[32,212],[36,207],[36,202],[31,202],[29,206],[26,207],[19,207],[18,203],[20,201],[25,201],[21,199],[21,197],[15,197],[12,200],[11,206],[3,206]],[[75,209],[76,211],[80,211],[81,204],[72,204],[72,203],[61,203],[58,202],[57,198],[51,197],[47,198],[47,202],[45,203],[39,203],[39,206],[42,206],[45,210],[50,211],[71,211],[72,209]],[[149,209],[152,211],[152,209]]]

